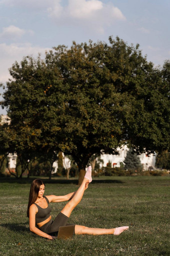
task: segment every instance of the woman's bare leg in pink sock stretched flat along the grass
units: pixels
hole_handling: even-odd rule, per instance
[[[85,226],[75,225],[75,234],[91,234],[91,235],[102,235],[102,234],[114,234],[119,235],[124,230],[127,230],[128,226],[116,227],[116,228],[91,228]]]

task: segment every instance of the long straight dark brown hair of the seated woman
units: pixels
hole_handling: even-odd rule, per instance
[[[31,204],[33,204],[36,201],[38,193],[39,193],[39,188],[41,185],[45,186],[43,181],[41,181],[40,179],[33,180],[30,185],[29,200],[28,200],[28,205],[27,205],[27,217],[28,218],[29,218],[29,207]]]

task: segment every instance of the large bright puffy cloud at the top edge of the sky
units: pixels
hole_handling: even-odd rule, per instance
[[[68,0],[67,6],[61,6],[57,1],[47,9],[49,17],[56,23],[81,25],[88,29],[104,32],[106,26],[111,26],[115,21],[125,21],[121,11],[111,3],[104,4],[99,0]]]

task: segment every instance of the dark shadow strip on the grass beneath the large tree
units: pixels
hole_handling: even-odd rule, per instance
[[[34,179],[41,179],[45,184],[78,184],[77,179],[47,179],[47,178],[42,178],[42,177],[34,177],[34,178],[21,178],[21,179],[16,179],[16,178],[11,178],[11,177],[0,177],[0,183],[18,183],[18,184],[31,184],[31,182]],[[93,179],[92,183],[124,183],[121,180],[114,180],[112,179]]]

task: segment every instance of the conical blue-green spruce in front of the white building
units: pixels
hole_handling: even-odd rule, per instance
[[[132,151],[132,149],[129,149],[127,151],[127,155],[124,159],[124,169],[126,170],[132,170],[132,171],[141,171],[142,170],[142,165],[140,163],[140,159],[137,156],[136,153]]]

